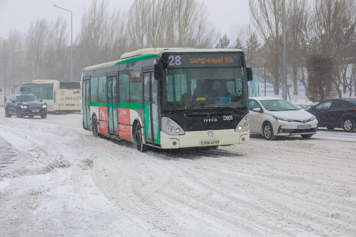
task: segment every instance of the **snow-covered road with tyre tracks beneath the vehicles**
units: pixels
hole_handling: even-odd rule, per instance
[[[0,108],[0,236],[356,236],[354,138],[140,153],[81,125]]]

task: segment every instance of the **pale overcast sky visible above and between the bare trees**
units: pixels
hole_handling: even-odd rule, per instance
[[[198,0],[202,2],[203,0]],[[10,29],[19,29],[27,34],[30,22],[37,18],[55,20],[62,14],[67,18],[70,36],[70,12],[64,11],[53,4],[73,11],[73,41],[80,31],[80,19],[83,9],[89,7],[91,0],[0,0],[0,37],[7,38]],[[128,9],[133,0],[109,0],[110,8]],[[214,22],[221,34],[227,34],[231,41],[237,36],[241,27],[250,21],[248,0],[205,0],[210,12],[210,20]],[[231,42],[232,43],[232,42]]]

